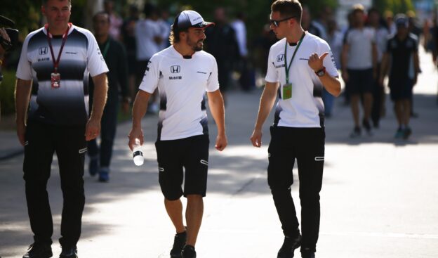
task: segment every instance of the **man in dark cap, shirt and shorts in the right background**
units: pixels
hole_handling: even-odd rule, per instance
[[[407,139],[412,134],[409,127],[412,89],[417,82],[420,71],[418,38],[409,33],[409,21],[405,15],[396,15],[395,25],[397,26],[397,34],[387,42],[379,83],[383,85],[383,79],[389,71],[388,86],[399,124],[394,137]]]

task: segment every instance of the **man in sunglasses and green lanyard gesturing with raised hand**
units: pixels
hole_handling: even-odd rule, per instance
[[[303,30],[302,10],[297,0],[277,0],[271,6],[270,28],[281,40],[270,49],[266,86],[251,136],[253,146],[260,147],[262,126],[278,91],[267,168],[267,182],[285,236],[278,258],[293,257],[293,251],[300,245],[302,257],[312,258],[316,252],[325,141],[322,87],[334,96],[340,93],[330,47],[323,39]],[[295,159],[300,179],[303,237],[291,195]]]

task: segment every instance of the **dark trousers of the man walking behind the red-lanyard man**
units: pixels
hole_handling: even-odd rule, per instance
[[[103,110],[102,120],[100,121],[100,148],[96,139],[88,141],[88,155],[90,157],[100,157],[100,167],[110,167],[112,157],[112,146],[117,129],[117,112],[119,103],[109,102]]]

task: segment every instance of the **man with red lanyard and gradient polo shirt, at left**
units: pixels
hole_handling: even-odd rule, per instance
[[[24,258],[52,257],[53,221],[46,185],[55,151],[64,198],[60,257],[77,257],[85,203],[86,141],[100,133],[108,68],[93,34],[69,23],[70,10],[69,0],[43,1],[41,11],[48,23],[27,35],[18,64],[17,134],[25,146],[23,172],[34,233]],[[95,91],[88,118],[89,75]]]

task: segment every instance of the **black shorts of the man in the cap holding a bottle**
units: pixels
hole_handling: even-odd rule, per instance
[[[206,195],[209,143],[208,135],[155,143],[159,184],[167,200],[178,200],[182,195]]]

